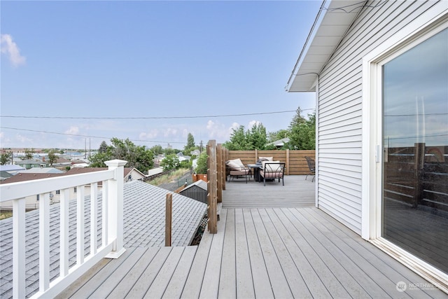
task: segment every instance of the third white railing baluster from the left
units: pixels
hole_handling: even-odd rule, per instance
[[[61,190],[60,197],[60,213],[61,213],[61,226],[60,226],[60,242],[59,244],[59,275],[66,277],[69,274],[69,189]]]

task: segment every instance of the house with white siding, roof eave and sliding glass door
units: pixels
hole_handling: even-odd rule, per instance
[[[448,1],[324,1],[286,87],[316,92],[316,207],[445,289],[447,27]]]

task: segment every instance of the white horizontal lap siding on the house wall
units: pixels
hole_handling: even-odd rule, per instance
[[[318,82],[318,207],[361,232],[362,58],[440,1],[369,1]],[[440,3],[439,3],[440,4]],[[344,13],[344,12],[341,12]]]

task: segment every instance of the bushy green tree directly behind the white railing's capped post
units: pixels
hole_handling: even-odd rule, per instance
[[[136,146],[130,139],[111,139],[111,146],[107,147],[105,153],[96,153],[90,157],[91,167],[106,167],[107,160],[126,160],[126,167],[135,167],[140,172],[147,172],[153,168],[153,151],[146,146]]]

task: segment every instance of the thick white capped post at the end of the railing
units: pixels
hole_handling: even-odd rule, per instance
[[[109,214],[108,214],[108,231],[109,241],[115,239],[113,242],[113,249],[106,258],[118,258],[126,249],[123,247],[123,176],[125,175],[125,165],[127,161],[124,160],[110,160],[105,162],[110,170],[115,171],[114,178],[108,183],[108,200]]]

